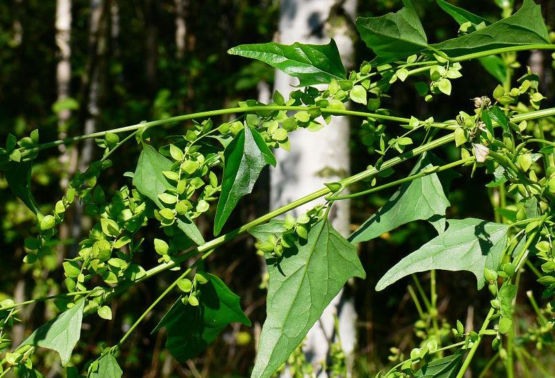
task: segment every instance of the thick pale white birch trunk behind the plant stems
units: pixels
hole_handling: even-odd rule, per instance
[[[352,66],[354,46],[350,25],[355,16],[354,0],[284,0],[280,14],[280,42],[326,44],[333,37],[345,67]],[[275,89],[287,96],[296,79],[277,71]],[[325,182],[344,178],[349,172],[348,119],[335,117],[330,125],[313,134],[299,130],[290,135],[291,153],[275,151],[278,166],[271,172],[271,207],[276,208],[306,194],[321,189]],[[323,202],[323,201],[320,201]],[[296,209],[294,215],[314,207],[317,202]],[[348,201],[334,204],[330,221],[343,235],[349,234],[350,210]],[[307,361],[322,363],[329,359],[334,343],[334,316],[339,317],[339,335],[343,351],[352,355],[355,348],[356,313],[352,300],[343,291],[325,309],[320,321],[312,327],[305,341]],[[348,359],[349,360],[349,359]],[[325,376],[325,372],[320,373]]]

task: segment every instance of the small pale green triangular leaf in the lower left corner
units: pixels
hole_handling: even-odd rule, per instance
[[[62,365],[67,364],[81,334],[83,307],[85,307],[85,300],[80,300],[71,309],[67,309],[57,318],[35,329],[35,332],[26,338],[22,345],[35,345],[56,350],[60,354]]]

